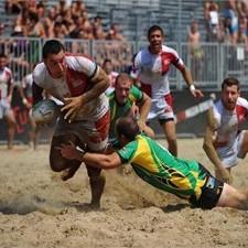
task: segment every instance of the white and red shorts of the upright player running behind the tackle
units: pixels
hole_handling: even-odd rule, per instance
[[[148,121],[154,118],[158,118],[159,120],[174,120],[172,101],[173,98],[171,94],[161,98],[152,99],[150,112],[148,115]]]

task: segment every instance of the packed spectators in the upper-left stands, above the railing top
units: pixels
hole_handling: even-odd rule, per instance
[[[55,6],[47,4],[47,1],[7,0],[6,12],[17,14],[13,35],[47,39],[125,40],[118,24],[114,23],[106,31],[100,17],[96,15],[89,19],[86,6],[82,0],[71,3],[60,0]]]

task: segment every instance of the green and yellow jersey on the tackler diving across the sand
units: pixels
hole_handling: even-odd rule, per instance
[[[157,141],[142,134],[117,153],[149,184],[181,198],[200,198],[206,171],[196,161],[177,159]]]

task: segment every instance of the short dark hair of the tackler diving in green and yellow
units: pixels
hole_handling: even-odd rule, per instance
[[[129,141],[132,141],[140,133],[140,128],[136,119],[121,117],[116,121],[116,132],[118,136],[123,136]]]

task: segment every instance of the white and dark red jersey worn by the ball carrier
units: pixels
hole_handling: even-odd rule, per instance
[[[95,62],[84,55],[66,54],[66,76],[53,78],[44,63],[35,66],[33,79],[35,84],[50,93],[53,97],[64,101],[65,97],[80,96],[94,85],[90,78],[98,73]],[[97,120],[108,110],[108,99],[105,94],[87,103],[82,112],[78,112],[76,120]]]

